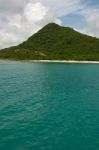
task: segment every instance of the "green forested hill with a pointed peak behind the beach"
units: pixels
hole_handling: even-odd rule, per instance
[[[50,23],[22,44],[1,50],[0,59],[99,60],[99,39]]]

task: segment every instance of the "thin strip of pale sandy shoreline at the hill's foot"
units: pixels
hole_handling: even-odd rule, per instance
[[[99,61],[80,61],[80,60],[10,60],[0,59],[1,61],[19,61],[19,62],[34,62],[34,63],[67,63],[67,64],[99,64]]]

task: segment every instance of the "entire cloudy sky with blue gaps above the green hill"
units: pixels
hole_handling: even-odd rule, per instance
[[[49,22],[99,37],[99,0],[0,0],[0,49],[21,43]]]

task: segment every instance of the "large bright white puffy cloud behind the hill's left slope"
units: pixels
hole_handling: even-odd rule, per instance
[[[24,41],[48,22],[57,21],[57,18],[42,3],[29,2],[23,13],[8,14],[6,20],[0,23],[1,48]]]

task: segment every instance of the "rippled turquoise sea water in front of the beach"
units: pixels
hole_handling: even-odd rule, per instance
[[[99,65],[0,62],[0,150],[99,150]]]

